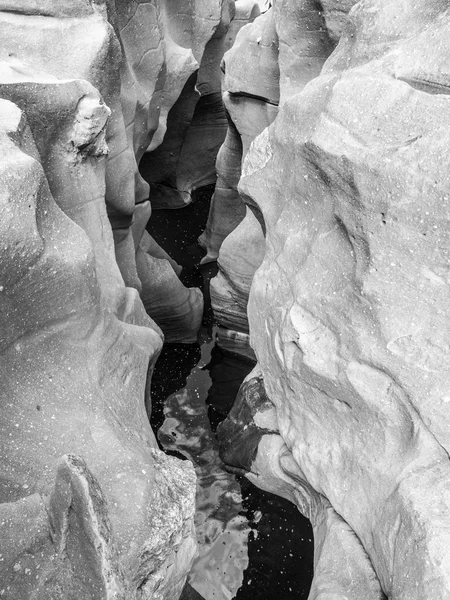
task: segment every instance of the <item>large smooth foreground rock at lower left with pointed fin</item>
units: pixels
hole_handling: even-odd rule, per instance
[[[108,110],[87,82],[46,85],[35,103],[42,124],[55,111],[52,160],[100,194]],[[55,202],[36,130],[10,101],[0,112],[2,597],[175,600],[195,554],[195,477],[157,449],[145,414],[162,336],[134,289],[105,283],[90,197]]]

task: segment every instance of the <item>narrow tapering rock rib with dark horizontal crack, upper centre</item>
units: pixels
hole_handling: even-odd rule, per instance
[[[217,157],[218,177],[208,222],[199,238],[206,249],[203,263],[217,260],[223,240],[244,219],[245,206],[237,191],[242,159],[251,141],[277,114],[278,39],[272,10],[239,31],[223,68],[229,125]]]

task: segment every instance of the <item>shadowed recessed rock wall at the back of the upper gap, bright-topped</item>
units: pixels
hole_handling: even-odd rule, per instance
[[[226,44],[232,41],[228,30],[235,16],[235,3],[222,0],[212,5],[197,0],[193,9],[188,2],[172,4],[167,3],[165,13],[170,17],[173,39],[193,49],[198,71],[184,82],[168,115],[168,133],[163,142],[155,140],[142,162],[155,208],[182,208],[191,202],[193,191],[215,183],[215,159],[227,128],[220,61]],[[242,16],[253,18],[259,13],[256,2],[251,4],[250,10],[240,9],[244,12],[241,21]]]

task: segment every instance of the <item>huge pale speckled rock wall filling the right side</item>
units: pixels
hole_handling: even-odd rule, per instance
[[[261,441],[251,470],[269,457],[325,498],[387,597],[446,598],[448,7],[367,0],[349,19],[240,183],[265,225],[248,312],[286,448],[258,458]]]

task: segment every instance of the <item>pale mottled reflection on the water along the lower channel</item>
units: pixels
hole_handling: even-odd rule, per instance
[[[208,363],[212,346],[211,339],[202,345],[200,360],[187,376],[184,387],[165,401],[165,420],[158,439],[164,450],[189,458],[197,473],[195,525],[199,556],[194,561],[189,583],[207,600],[231,600],[242,585],[248,565],[250,528],[243,512],[240,485],[219,458],[218,444],[208,419],[205,398],[211,386]],[[175,372],[170,371],[173,377],[168,378],[170,382],[166,381],[166,391],[182,381],[180,366],[188,352],[187,362],[197,359],[196,346],[189,350],[166,347],[163,366],[170,366],[171,356],[175,359]],[[159,391],[164,387],[160,372],[157,387]],[[160,415],[161,407],[155,408]]]

